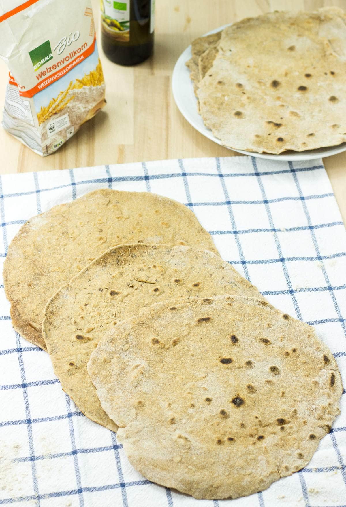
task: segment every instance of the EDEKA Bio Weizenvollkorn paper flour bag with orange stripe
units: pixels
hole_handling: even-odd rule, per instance
[[[90,0],[0,0],[4,128],[42,156],[105,105]]]

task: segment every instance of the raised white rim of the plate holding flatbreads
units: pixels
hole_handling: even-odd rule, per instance
[[[200,35],[200,37],[206,37],[206,35],[211,35],[212,33],[216,33],[218,31],[221,31],[224,28],[226,28],[227,26],[231,26],[232,24],[233,23],[227,23],[225,25],[218,26],[217,28],[209,30],[208,32],[204,33],[203,35]],[[267,159],[267,160],[279,160],[279,161],[286,161],[286,162],[288,162],[288,161],[291,161],[291,162],[293,162],[293,161],[299,162],[300,161],[301,162],[301,161],[308,161],[308,160],[317,160],[317,159],[321,159],[321,158],[331,157],[332,155],[337,155],[338,153],[342,153],[342,152],[346,151],[346,142],[343,142],[343,143],[340,143],[340,144],[337,144],[334,146],[330,146],[330,147],[327,146],[324,148],[316,148],[314,150],[306,150],[306,151],[301,151],[301,152],[289,153],[289,152],[292,152],[290,150],[286,154],[285,154],[285,152],[283,152],[282,154],[278,154],[278,155],[276,155],[274,153],[258,153],[258,152],[249,152],[246,150],[236,150],[235,148],[229,148],[228,146],[225,146],[225,144],[223,144],[220,139],[217,139],[217,137],[215,137],[213,135],[212,131],[210,129],[208,129],[206,126],[204,126],[204,131],[202,131],[200,129],[200,127],[196,124],[194,119],[189,117],[188,115],[186,115],[185,107],[181,103],[181,100],[179,97],[179,91],[178,91],[178,88],[179,88],[178,83],[181,78],[181,75],[180,75],[181,71],[180,71],[179,67],[186,68],[186,71],[189,73],[188,74],[189,85],[190,85],[190,87],[193,87],[193,83],[190,79],[190,71],[185,66],[185,63],[191,57],[192,57],[192,53],[191,53],[191,44],[190,44],[189,46],[187,46],[187,48],[185,48],[182,51],[182,53],[179,55],[177,61],[175,62],[173,73],[172,73],[172,85],[171,85],[172,86],[172,94],[173,94],[175,104],[178,107],[178,110],[180,111],[181,115],[185,118],[185,120],[188,123],[190,123],[190,125],[195,130],[197,130],[200,134],[202,134],[207,139],[210,139],[211,141],[215,142],[219,146],[222,146],[222,147],[226,148],[227,150],[230,150],[230,151],[233,151],[236,153],[241,153],[243,155],[247,155],[250,157],[257,157],[257,158],[262,158],[262,159]],[[180,84],[181,84],[181,81],[180,81]],[[197,99],[196,99],[196,102],[194,103],[194,106],[197,107]]]

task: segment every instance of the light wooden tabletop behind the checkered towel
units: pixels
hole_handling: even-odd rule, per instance
[[[73,1],[73,0],[72,0]],[[100,1],[92,0],[97,33]],[[346,9],[346,0],[156,0],[154,55],[135,67],[121,67],[103,55],[107,106],[56,153],[42,158],[0,127],[0,173],[186,157],[238,155],[206,139],[186,122],[171,92],[180,53],[199,35],[247,16],[273,10]],[[0,61],[0,109],[8,69]],[[324,159],[346,223],[346,152]]]

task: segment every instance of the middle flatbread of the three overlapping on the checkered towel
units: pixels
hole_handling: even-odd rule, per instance
[[[144,244],[108,250],[47,304],[43,336],[62,388],[87,417],[115,430],[86,371],[90,353],[105,332],[155,302],[227,293],[260,295],[209,251]]]

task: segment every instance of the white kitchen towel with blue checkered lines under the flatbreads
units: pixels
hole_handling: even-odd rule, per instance
[[[346,234],[322,161],[231,157],[5,175],[1,261],[30,216],[104,187],[155,192],[190,207],[226,261],[273,305],[316,327],[346,386]],[[0,504],[341,507],[345,402],[344,392],[341,415],[301,472],[251,497],[195,500],[145,480],[115,433],[81,414],[62,392],[48,354],[13,330],[0,279]]]

